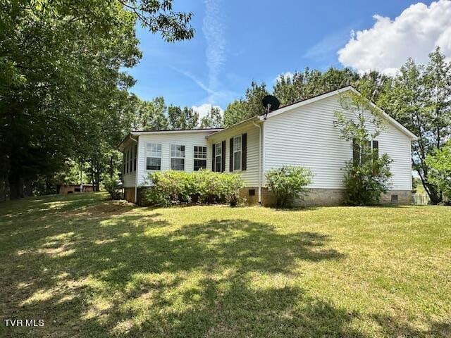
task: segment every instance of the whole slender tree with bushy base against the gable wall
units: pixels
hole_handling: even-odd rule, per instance
[[[343,183],[346,203],[354,206],[376,204],[390,187],[390,163],[387,154],[378,154],[373,139],[385,129],[381,113],[365,96],[346,92],[340,96],[343,111],[335,112],[335,127],[341,138],[352,144],[353,158],[345,165]],[[373,131],[368,129],[373,126]],[[373,144],[374,145],[374,144]]]

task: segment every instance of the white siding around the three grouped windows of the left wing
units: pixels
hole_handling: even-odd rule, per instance
[[[185,171],[194,171],[194,146],[206,146],[206,168],[211,170],[211,145],[207,144],[206,135],[211,132],[165,132],[140,134],[138,144],[138,186],[149,185],[147,177],[156,170],[146,169],[147,142],[161,144],[161,171],[171,170],[171,144],[185,146]]]

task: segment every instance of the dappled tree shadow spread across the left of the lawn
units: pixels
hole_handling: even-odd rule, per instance
[[[3,335],[364,337],[352,326],[359,313],[296,282],[299,263],[344,257],[326,235],[233,219],[175,227],[129,211],[15,228],[27,242],[9,237],[1,253],[2,312],[45,325]]]

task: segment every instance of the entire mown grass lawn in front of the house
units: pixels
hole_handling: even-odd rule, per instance
[[[0,204],[0,271],[6,337],[451,336],[446,206],[24,199]]]

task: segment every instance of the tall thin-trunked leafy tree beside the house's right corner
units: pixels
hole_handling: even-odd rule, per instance
[[[418,137],[412,145],[412,168],[418,173],[431,203],[438,204],[440,192],[429,180],[426,158],[435,149],[441,149],[450,137],[451,63],[445,62],[438,48],[429,58],[426,66],[416,65],[409,59],[378,103]]]

